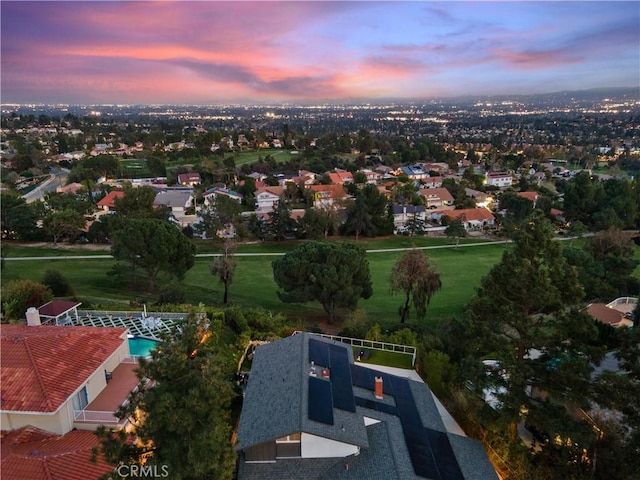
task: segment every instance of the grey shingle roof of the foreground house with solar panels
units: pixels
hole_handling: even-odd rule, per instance
[[[333,425],[308,418],[310,338],[339,345],[347,350],[354,385],[353,393],[356,398],[371,402],[369,404],[357,402],[359,406],[356,407],[355,412],[334,407]],[[385,392],[388,384],[390,391],[402,387],[406,394],[412,397],[411,402],[415,405],[410,406],[410,410],[417,411],[414,423],[422,424],[425,438],[432,438],[427,442],[436,442],[425,452],[434,456],[431,458],[435,461],[433,465],[436,468],[437,478],[448,478],[447,475],[453,472],[454,477],[451,478],[497,479],[495,470],[480,442],[447,431],[426,384],[377,371],[370,375],[362,369],[363,367],[359,365],[353,365],[353,353],[349,347],[322,337],[312,337],[310,334],[294,335],[259,347],[253,359],[238,427],[236,449],[241,451],[295,432],[308,433],[360,448],[358,454],[343,458],[277,459],[273,463],[241,461],[239,478],[243,480],[254,478],[329,480],[343,477],[356,480],[424,478],[415,473],[414,468],[417,468],[413,462],[415,452],[410,454],[409,450],[410,448],[415,450],[416,446],[407,444],[409,437],[403,429],[403,422],[407,421],[407,412],[396,411],[395,408],[398,406],[396,399],[387,393],[383,400],[375,401],[390,405],[392,408],[388,409],[389,413],[371,409],[378,407],[372,406],[374,387],[370,380],[373,376],[381,376],[384,378]],[[353,375],[357,374],[359,376],[356,380]],[[356,383],[361,385],[355,386]],[[371,384],[370,387],[369,384]],[[405,398],[403,408],[407,408],[407,397],[397,398],[398,402],[400,398]],[[379,423],[365,427],[365,417],[371,419],[368,423],[375,420]],[[434,450],[432,451],[431,448]],[[449,448],[448,451],[452,452],[450,454],[453,455],[452,457],[436,458],[438,455],[445,455]]]

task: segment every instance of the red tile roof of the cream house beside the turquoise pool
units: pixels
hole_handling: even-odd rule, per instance
[[[113,352],[126,328],[2,325],[1,409],[55,412]]]

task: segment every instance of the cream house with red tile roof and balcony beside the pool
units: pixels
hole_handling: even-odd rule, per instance
[[[27,315],[30,325],[0,333],[3,429],[64,435],[126,425],[114,412],[138,385],[127,329],[39,325],[37,311]]]

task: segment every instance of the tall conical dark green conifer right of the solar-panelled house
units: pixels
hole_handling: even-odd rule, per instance
[[[473,381],[488,378],[504,392],[498,395],[498,415],[514,439],[521,412],[527,411],[528,420],[552,436],[571,434],[575,441],[589,429],[580,430],[582,424],[562,405],[588,409],[589,365],[601,354],[593,347],[597,330],[579,310],[582,288],[549,220],[535,215],[516,231],[514,243],[466,308],[473,357],[490,353],[500,364]],[[530,395],[532,388],[546,393]]]

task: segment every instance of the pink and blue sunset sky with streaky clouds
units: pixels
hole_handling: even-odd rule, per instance
[[[640,85],[633,2],[32,2],[2,103],[347,102]]]

